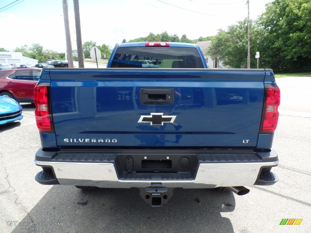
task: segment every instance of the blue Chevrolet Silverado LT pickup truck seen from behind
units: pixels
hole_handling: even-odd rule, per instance
[[[159,207],[175,188],[278,181],[273,71],[207,69],[195,44],[122,43],[105,69],[43,68],[34,101],[43,185],[135,187]]]

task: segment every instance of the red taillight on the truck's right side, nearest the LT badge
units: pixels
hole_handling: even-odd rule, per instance
[[[280,89],[276,85],[265,84],[265,103],[263,106],[260,133],[269,134],[276,130],[280,105]]]

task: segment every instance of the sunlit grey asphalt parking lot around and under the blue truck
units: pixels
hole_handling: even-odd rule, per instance
[[[237,196],[176,189],[162,208],[137,189],[79,190],[40,185],[34,163],[40,147],[33,104],[24,119],[0,126],[0,232],[310,232],[311,77],[278,78],[280,118],[273,148],[280,163],[273,186]],[[282,219],[303,219],[280,225]]]

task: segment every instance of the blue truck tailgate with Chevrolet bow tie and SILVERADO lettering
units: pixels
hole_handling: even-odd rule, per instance
[[[264,70],[52,68],[49,75],[60,148],[257,145]]]

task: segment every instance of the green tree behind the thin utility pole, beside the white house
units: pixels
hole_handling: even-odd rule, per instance
[[[247,63],[247,19],[237,22],[236,25],[230,25],[228,29],[219,29],[216,36],[211,38],[211,45],[207,48],[207,53],[212,58],[219,58],[225,65],[232,68],[240,68],[241,63]],[[250,21],[251,34],[251,68],[257,68],[257,59],[255,54],[259,47],[260,37],[258,26]]]

